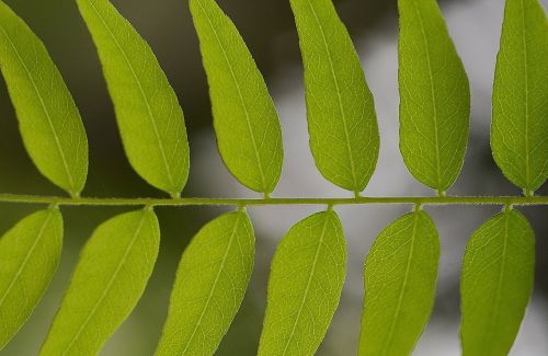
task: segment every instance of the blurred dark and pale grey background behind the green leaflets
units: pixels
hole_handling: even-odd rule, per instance
[[[48,47],[80,107],[90,143],[85,196],[162,196],[134,173],[124,157],[112,103],[91,38],[73,0],[4,0]],[[548,0],[541,0],[548,8]],[[191,176],[183,196],[256,196],[240,186],[224,168],[212,128],[207,83],[197,37],[185,0],[113,0],[150,43],[183,106],[191,145]],[[276,103],[284,133],[284,172],[274,196],[350,196],[315,168],[308,148],[302,68],[288,0],[218,0],[246,38]],[[416,183],[398,150],[397,9],[396,0],[340,0],[336,9],[347,25],[376,100],[381,135],[377,171],[368,196],[432,195]],[[503,0],[441,0],[449,32],[470,77],[472,115],[470,142],[460,177],[448,194],[517,195],[491,157],[489,125],[491,88],[499,47]],[[547,133],[548,135],[548,133]],[[0,80],[0,192],[64,193],[42,177],[26,156],[13,107]],[[537,192],[548,194],[548,186]],[[0,232],[37,209],[0,205]],[[277,241],[301,218],[322,207],[251,208],[256,232],[256,262],[243,306],[217,355],[256,352],[266,300],[270,261]],[[354,355],[363,299],[363,261],[374,238],[409,207],[336,207],[349,243],[347,278],[333,323],[318,355]],[[433,317],[414,355],[459,355],[459,269],[470,233],[495,214],[496,207],[429,208],[439,230],[442,260]],[[535,294],[512,355],[548,355],[548,207],[520,208],[537,236]],[[79,251],[93,229],[123,208],[62,207],[65,249],[59,271],[28,323],[0,355],[36,355],[62,298]],[[151,355],[165,319],[170,288],[182,251],[221,208],[157,209],[162,243],[148,288],[128,320],[101,355]],[[115,239],[116,237],[113,237]]]

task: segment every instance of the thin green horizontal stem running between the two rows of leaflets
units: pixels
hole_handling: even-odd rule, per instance
[[[548,196],[393,196],[352,198],[93,198],[0,194],[0,203],[87,206],[255,206],[255,205],[548,205]]]

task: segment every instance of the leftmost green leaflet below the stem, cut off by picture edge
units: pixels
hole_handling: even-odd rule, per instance
[[[42,299],[61,249],[62,217],[56,208],[27,216],[0,239],[0,349]]]

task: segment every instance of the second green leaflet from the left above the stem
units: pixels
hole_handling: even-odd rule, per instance
[[[78,0],[98,47],[129,163],[179,196],[189,176],[183,111],[149,45],[107,0]]]

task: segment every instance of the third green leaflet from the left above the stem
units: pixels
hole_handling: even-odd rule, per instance
[[[271,193],[282,174],[282,129],[264,79],[230,19],[214,0],[191,0],[209,82],[214,127],[228,170]]]

